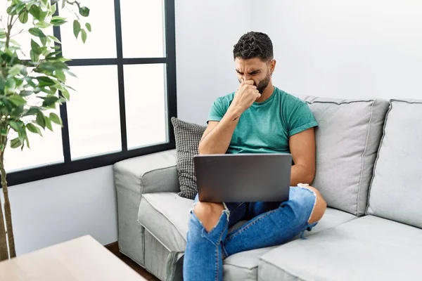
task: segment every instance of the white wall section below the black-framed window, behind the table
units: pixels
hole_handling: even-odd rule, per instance
[[[18,255],[87,234],[117,240],[112,166],[15,185],[9,198]]]

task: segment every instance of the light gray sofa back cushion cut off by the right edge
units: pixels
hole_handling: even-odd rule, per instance
[[[422,228],[422,100],[391,100],[368,214]]]

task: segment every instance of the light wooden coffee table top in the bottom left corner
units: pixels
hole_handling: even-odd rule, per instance
[[[146,280],[87,235],[0,263],[0,280]]]

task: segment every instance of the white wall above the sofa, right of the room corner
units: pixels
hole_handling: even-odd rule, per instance
[[[274,82],[285,91],[422,97],[420,0],[260,0],[252,14],[252,29],[273,41]]]

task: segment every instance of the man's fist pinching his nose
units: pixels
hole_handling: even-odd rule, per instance
[[[261,97],[257,87],[253,85],[253,80],[243,81],[234,94],[230,107],[235,112],[242,114],[252,103]]]

